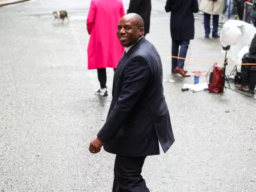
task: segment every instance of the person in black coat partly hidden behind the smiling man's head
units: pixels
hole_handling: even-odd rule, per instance
[[[144,36],[149,33],[151,0],[131,0],[127,13],[137,13],[144,21]]]

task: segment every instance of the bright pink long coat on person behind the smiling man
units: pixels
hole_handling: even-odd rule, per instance
[[[118,22],[125,14],[122,0],[92,0],[87,17],[88,69],[116,68],[124,48],[116,36]]]

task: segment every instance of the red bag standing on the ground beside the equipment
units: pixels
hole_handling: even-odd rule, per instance
[[[214,65],[212,70],[211,82],[208,85],[209,92],[219,93],[224,90],[223,69],[220,65]]]

